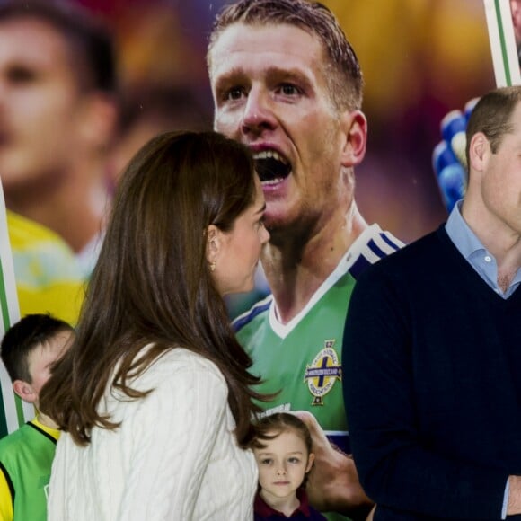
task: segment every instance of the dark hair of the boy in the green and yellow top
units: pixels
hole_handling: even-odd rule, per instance
[[[11,380],[23,380],[31,384],[29,355],[62,331],[74,331],[63,320],[49,314],[28,314],[5,332],[0,345],[0,356]]]

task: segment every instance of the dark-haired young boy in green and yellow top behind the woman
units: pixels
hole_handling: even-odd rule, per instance
[[[68,348],[73,328],[49,314],[29,314],[4,335],[1,357],[24,402],[36,418],[0,440],[0,520],[47,519],[47,488],[59,430],[38,411],[40,389]]]

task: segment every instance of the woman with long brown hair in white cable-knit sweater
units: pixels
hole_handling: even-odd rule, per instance
[[[222,296],[252,289],[269,239],[252,155],[167,133],[119,182],[77,338],[40,395],[65,431],[49,520],[250,519],[262,397]]]

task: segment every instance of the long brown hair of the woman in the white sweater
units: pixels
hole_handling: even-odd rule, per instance
[[[128,165],[75,343],[40,393],[41,411],[79,445],[90,442],[94,426],[118,427],[98,412],[107,387],[144,397],[130,378],[178,346],[216,363],[237,440],[251,442],[259,378],[247,370],[252,360],[235,339],[209,270],[206,231],[212,224],[233,228],[254,200],[254,175],[249,150],[214,132],[155,137]],[[140,353],[150,342],[154,347]]]

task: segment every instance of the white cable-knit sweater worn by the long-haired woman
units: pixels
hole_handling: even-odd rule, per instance
[[[106,396],[120,428],[93,428],[92,443],[57,444],[49,521],[251,520],[257,467],[237,446],[224,376],[176,348],[131,385],[145,399]]]

